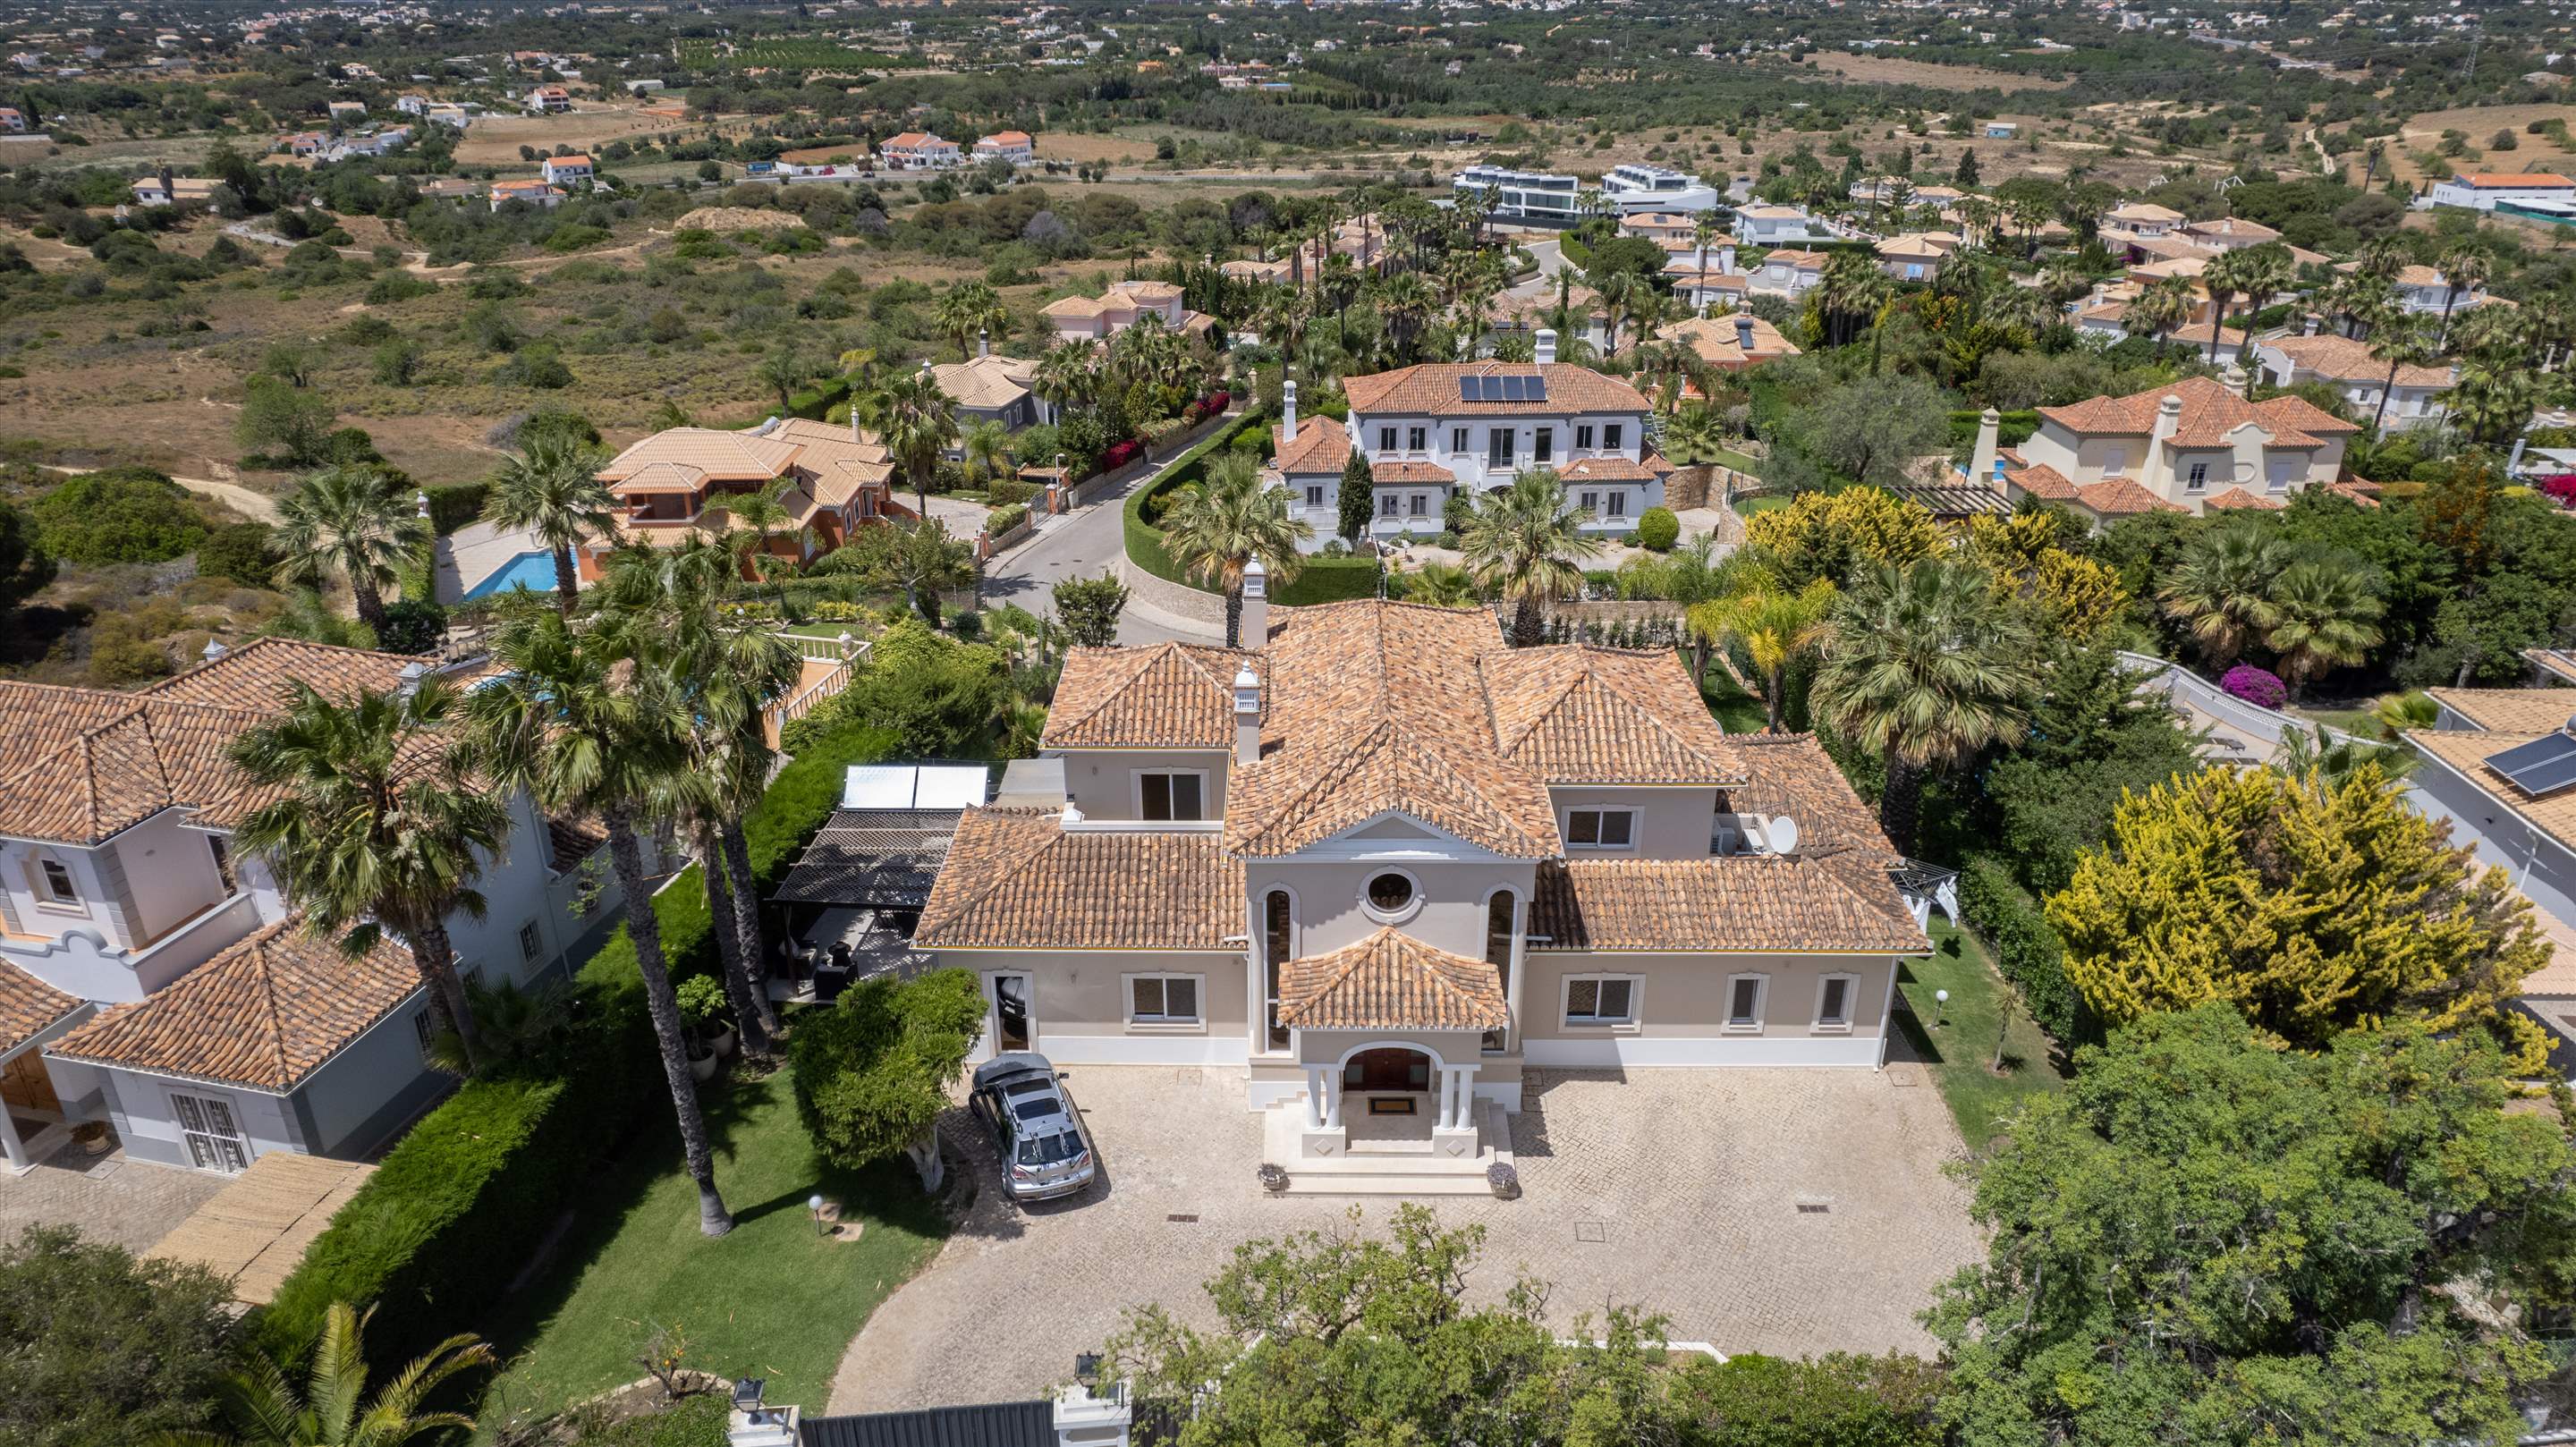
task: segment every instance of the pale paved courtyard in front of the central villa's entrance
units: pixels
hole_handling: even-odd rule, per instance
[[[850,1344],[832,1411],[1025,1401],[1066,1380],[1128,1305],[1213,1326],[1200,1282],[1239,1241],[1342,1226],[1352,1202],[1370,1228],[1394,1210],[1262,1195],[1239,1071],[1092,1066],[1066,1084],[1105,1182],[1012,1208],[981,1138],[951,1128],[987,1190]],[[1525,1272],[1553,1285],[1561,1323],[1636,1303],[1667,1313],[1677,1341],[1721,1352],[1924,1352],[1914,1313],[1978,1254],[1968,1195],[1942,1174],[1958,1130],[1922,1066],[1530,1071],[1512,1148],[1520,1200],[1432,1205],[1486,1228],[1476,1298]]]

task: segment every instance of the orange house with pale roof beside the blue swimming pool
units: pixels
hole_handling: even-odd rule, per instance
[[[618,543],[672,546],[693,530],[739,525],[726,499],[755,492],[773,492],[788,512],[788,530],[775,533],[768,551],[809,561],[886,515],[894,461],[876,433],[858,425],[788,417],[747,433],[654,433],[611,458],[600,481],[618,499],[618,533],[582,548],[582,582],[600,577]]]

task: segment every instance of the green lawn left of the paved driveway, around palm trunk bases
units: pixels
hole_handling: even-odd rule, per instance
[[[706,1092],[716,1187],[734,1231],[698,1233],[698,1192],[667,1110],[585,1195],[585,1220],[546,1282],[489,1331],[510,1359],[484,1398],[502,1414],[554,1411],[641,1377],[654,1323],[677,1326],[685,1362],[770,1380],[770,1401],[819,1411],[832,1372],[876,1303],[917,1272],[948,1226],[904,1164],[837,1172],[814,1156],[786,1071]],[[858,1241],[814,1233],[806,1197],[845,1202]],[[531,1233],[544,1223],[531,1223]]]

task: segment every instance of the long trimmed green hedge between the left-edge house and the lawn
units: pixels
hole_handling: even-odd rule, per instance
[[[744,819],[752,873],[768,891],[832,816],[848,765],[891,757],[881,729],[827,736],[778,772]],[[672,978],[716,966],[706,888],[690,865],[652,901]],[[376,1303],[368,1347],[410,1359],[474,1323],[510,1287],[562,1210],[634,1130],[667,1130],[662,1061],[644,1014],[644,978],[626,927],[580,966],[574,1040],[559,1074],[464,1081],[397,1143],[376,1174],[307,1246],[252,1336],[304,1352],[332,1300]]]

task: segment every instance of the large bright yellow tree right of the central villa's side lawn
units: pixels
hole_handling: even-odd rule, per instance
[[[2048,922],[2105,1025],[2215,999],[2313,1050],[2419,1017],[2540,1063],[2537,1030],[2504,1012],[2548,963],[2530,901],[2372,762],[2342,780],[2210,767],[2130,793]]]

